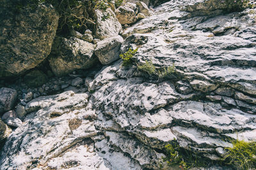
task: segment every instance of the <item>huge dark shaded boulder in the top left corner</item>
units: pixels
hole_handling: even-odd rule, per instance
[[[1,1],[0,78],[36,67],[51,52],[58,26],[52,6],[18,8],[18,1]]]

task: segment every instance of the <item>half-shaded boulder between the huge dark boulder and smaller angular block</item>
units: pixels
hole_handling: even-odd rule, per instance
[[[57,37],[49,56],[49,64],[56,76],[72,73],[75,69],[88,69],[97,62],[93,55],[95,45],[74,37]]]

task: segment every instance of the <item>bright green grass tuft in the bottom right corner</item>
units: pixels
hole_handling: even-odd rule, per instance
[[[227,154],[224,160],[241,169],[256,167],[256,141],[232,141],[232,148],[225,148]]]

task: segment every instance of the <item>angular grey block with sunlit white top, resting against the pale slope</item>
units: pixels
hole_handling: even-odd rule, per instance
[[[120,58],[119,51],[123,41],[124,39],[121,36],[115,36],[97,43],[95,55],[97,55],[101,64],[110,64]]]

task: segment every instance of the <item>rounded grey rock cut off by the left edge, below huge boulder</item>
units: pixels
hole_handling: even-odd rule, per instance
[[[14,89],[2,87],[0,89],[0,114],[12,110],[17,99],[17,92]]]

